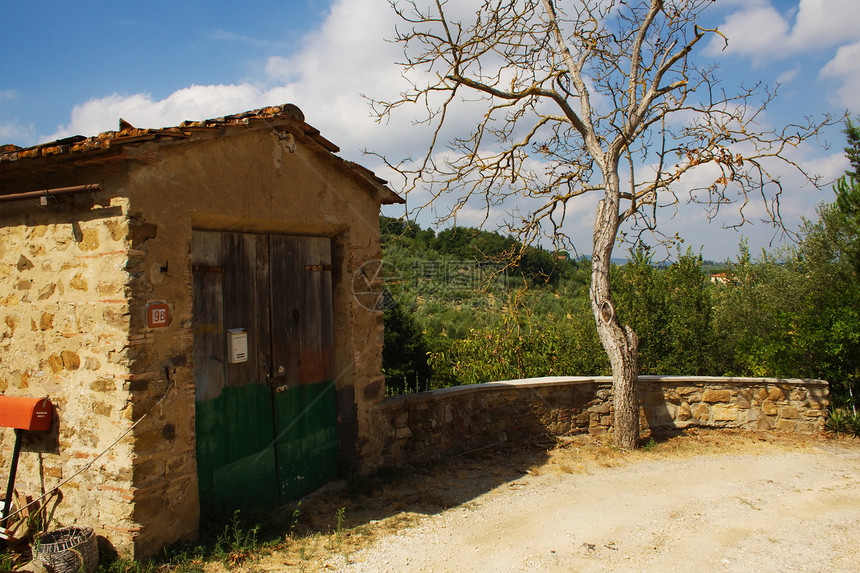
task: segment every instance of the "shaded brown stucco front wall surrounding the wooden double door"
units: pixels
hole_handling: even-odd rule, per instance
[[[271,130],[236,133],[195,145],[161,146],[158,161],[136,163],[129,173],[130,216],[147,240],[139,247],[131,338],[141,341],[132,366],[134,400],[143,411],[164,391],[173,393],[141,433],[135,461],[135,519],[147,524],[135,543],[139,553],[187,536],[199,516],[194,434],[192,229],[317,235],[332,239],[335,316],[335,384],[342,458],[371,422],[368,400],[381,397],[381,312],[353,296],[361,265],[380,257],[379,203],[368,198],[324,155],[299,143],[294,152]],[[149,329],[147,303],[165,301],[169,327]]]

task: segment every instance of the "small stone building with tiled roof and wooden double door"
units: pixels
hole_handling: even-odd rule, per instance
[[[19,491],[142,556],[365,465],[402,199],[337,151],[291,104],[0,148],[0,391],[56,406]]]

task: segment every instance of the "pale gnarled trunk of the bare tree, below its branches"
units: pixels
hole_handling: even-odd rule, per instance
[[[618,321],[609,289],[610,259],[619,223],[617,194],[607,192],[594,222],[590,295],[597,334],[612,365],[615,444],[634,449],[639,439],[639,338],[632,328]]]

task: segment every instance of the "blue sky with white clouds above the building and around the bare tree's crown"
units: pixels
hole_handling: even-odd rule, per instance
[[[384,168],[362,149],[421,151],[422,134],[408,114],[377,125],[361,98],[391,95],[399,83],[393,64],[399,48],[384,41],[395,25],[385,0],[2,5],[0,144],[95,135],[116,129],[119,117],[162,127],[292,102],[343,157],[383,177]],[[699,57],[719,62],[727,86],[782,84],[766,118],[771,124],[846,110],[860,114],[860,1],[718,0],[707,24],[719,26],[729,47],[714,42]],[[847,166],[844,139],[838,127],[825,139],[830,149],[809,145],[794,157],[831,181]],[[832,198],[829,186],[815,190],[797,181],[793,188],[789,173],[785,183],[790,227],[801,216],[814,217],[818,201]],[[394,180],[392,187],[398,190]],[[585,252],[592,209],[584,202],[569,220]],[[473,217],[464,212],[458,222],[476,223],[477,211]],[[679,232],[706,258],[737,253],[741,234],[722,229],[726,221],[705,224],[700,211],[685,209],[665,222],[670,234]],[[743,235],[754,252],[770,248],[773,239],[764,225],[745,227]]]

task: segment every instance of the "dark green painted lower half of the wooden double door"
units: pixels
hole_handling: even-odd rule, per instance
[[[331,481],[337,476],[334,420],[330,381],[280,392],[266,384],[225,388],[197,402],[201,505],[275,507]]]

